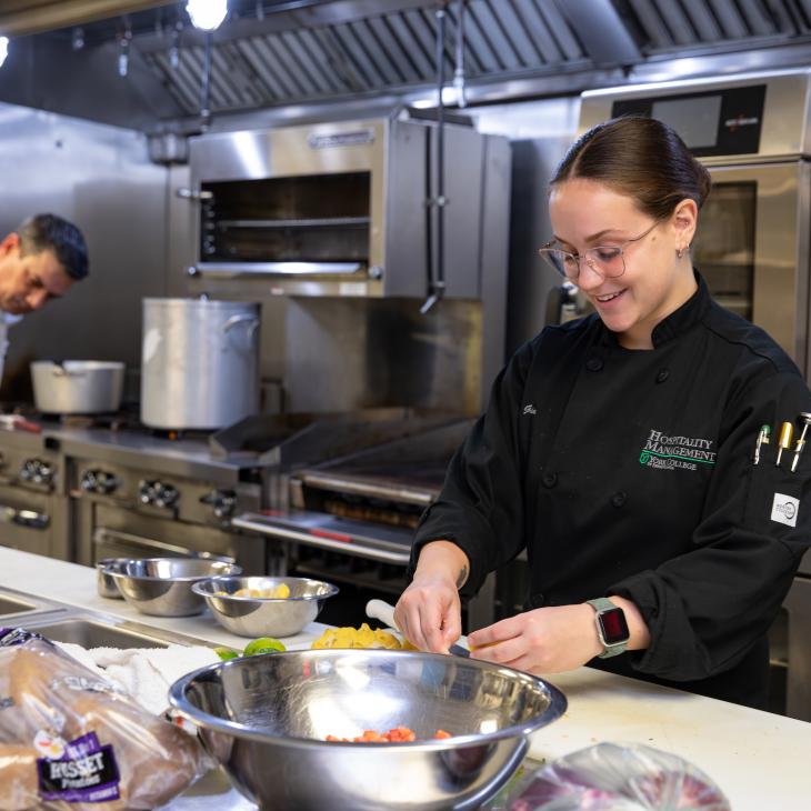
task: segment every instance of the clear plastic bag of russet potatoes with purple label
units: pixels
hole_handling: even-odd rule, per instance
[[[0,629],[0,811],[154,809],[211,765],[196,738],[48,640]]]

